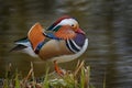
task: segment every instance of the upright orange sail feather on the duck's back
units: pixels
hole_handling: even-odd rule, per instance
[[[28,33],[28,38],[30,40],[33,50],[44,41],[43,28],[40,23],[35,23]]]

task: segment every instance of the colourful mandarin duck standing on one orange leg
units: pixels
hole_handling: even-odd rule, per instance
[[[52,61],[57,74],[64,74],[57,63],[78,58],[88,46],[88,38],[79,28],[78,22],[68,15],[59,18],[44,30],[35,23],[28,36],[15,41],[16,46],[11,51],[22,51],[43,61]]]

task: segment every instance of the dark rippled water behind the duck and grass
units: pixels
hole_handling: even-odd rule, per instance
[[[106,74],[106,88],[132,88],[131,0],[0,0],[0,77],[9,63],[26,74],[31,61],[35,75],[44,74],[52,64],[9,50],[35,22],[47,28],[64,14],[77,18],[89,37],[80,59],[91,66],[91,84],[102,88]],[[76,62],[69,67],[65,63],[64,68],[70,69]]]

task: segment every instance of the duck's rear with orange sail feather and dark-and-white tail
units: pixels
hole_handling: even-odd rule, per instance
[[[20,51],[36,57],[37,54],[35,54],[35,51],[38,44],[44,42],[44,40],[45,35],[43,33],[43,28],[40,23],[35,23],[29,31],[26,37],[14,41],[15,46],[12,50],[10,50],[10,52]]]

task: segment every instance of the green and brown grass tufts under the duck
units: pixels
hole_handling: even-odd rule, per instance
[[[90,84],[90,67],[85,66],[84,62],[78,62],[74,70],[65,70],[63,76],[55,72],[50,74],[46,70],[43,80],[36,81],[34,77],[33,63],[26,77],[22,78],[16,70],[14,76],[9,78],[9,73],[6,74],[3,88],[94,88]],[[31,80],[32,79],[32,80]]]

